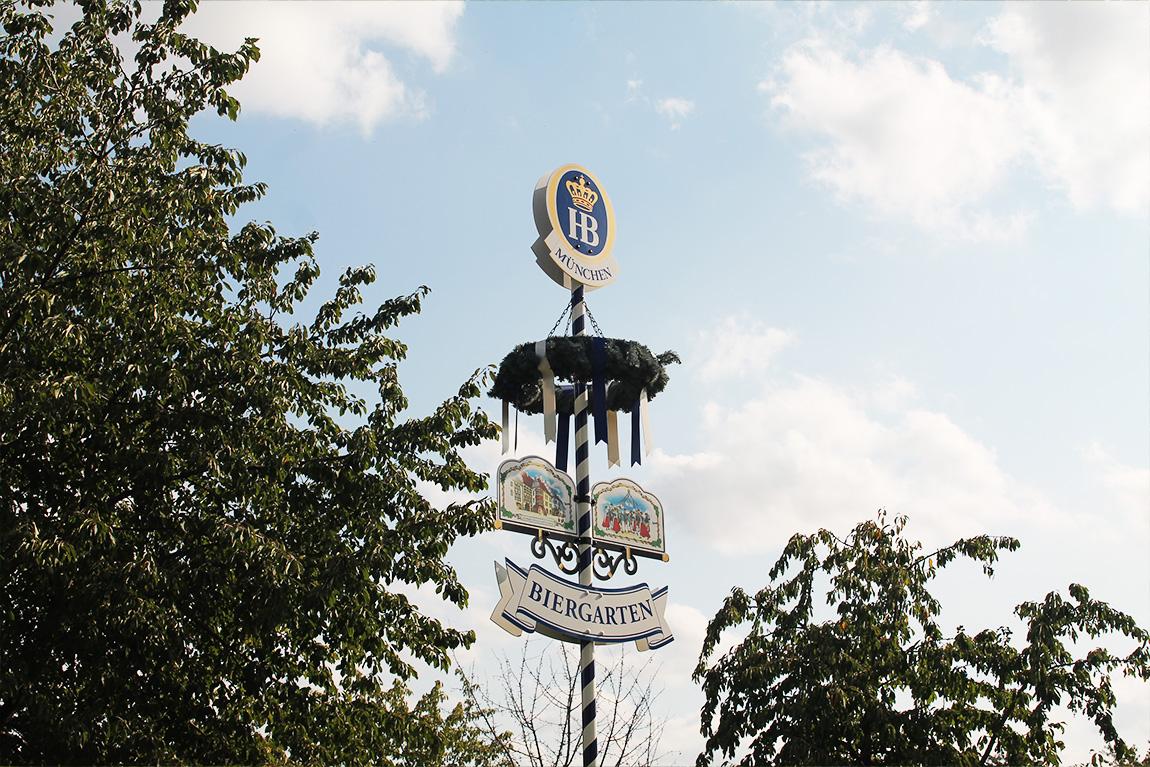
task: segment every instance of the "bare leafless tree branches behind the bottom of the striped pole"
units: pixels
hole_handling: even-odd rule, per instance
[[[578,652],[562,642],[532,655],[524,643],[519,657],[500,658],[494,691],[459,672],[475,726],[499,744],[507,765],[574,767],[583,764],[583,723]],[[653,658],[638,666],[620,647],[614,662],[599,666],[597,741],[603,767],[647,767],[660,757],[665,720],[654,713]],[[511,730],[505,729],[509,726]]]

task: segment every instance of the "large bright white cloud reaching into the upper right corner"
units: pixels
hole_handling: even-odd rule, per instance
[[[929,21],[910,10],[907,29]],[[934,59],[889,46],[844,54],[815,36],[788,48],[760,90],[783,124],[818,137],[810,172],[842,200],[950,238],[1011,239],[1029,214],[991,212],[990,198],[1019,168],[1075,207],[1145,213],[1148,24],[1145,3],[1006,6],[977,41],[1007,56],[1009,74],[965,78]]]

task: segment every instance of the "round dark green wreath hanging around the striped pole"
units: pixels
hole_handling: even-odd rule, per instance
[[[591,336],[552,336],[547,339],[547,362],[557,379],[591,383]],[[634,340],[605,338],[606,365],[604,378],[607,381],[607,409],[630,413],[644,389],[647,399],[667,386],[667,369],[672,362],[681,362],[678,354],[664,352],[658,356],[651,350]],[[516,346],[504,358],[496,374],[489,397],[505,399],[523,413],[543,412],[543,375],[539,360],[535,355],[535,344]],[[575,396],[570,389],[555,388],[555,409],[570,414],[575,409]]]

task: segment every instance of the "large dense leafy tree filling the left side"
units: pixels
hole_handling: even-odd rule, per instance
[[[466,604],[443,558],[490,509],[419,483],[485,486],[486,374],[406,417],[427,289],[356,312],[371,267],[293,319],[316,236],[233,230],[264,186],[189,135],[254,40],[80,8],[0,6],[0,762],[382,761],[391,680],[474,638],[401,588]]]

